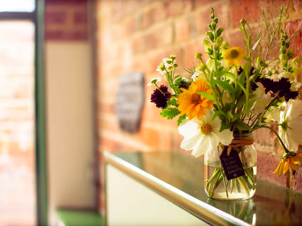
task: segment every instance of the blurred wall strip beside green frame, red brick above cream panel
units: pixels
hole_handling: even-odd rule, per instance
[[[45,1],[49,225],[58,207],[95,206],[87,2]]]

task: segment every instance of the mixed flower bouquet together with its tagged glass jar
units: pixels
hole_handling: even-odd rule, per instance
[[[301,73],[300,57],[292,58],[294,49],[289,48],[296,33],[288,37],[281,29],[288,19],[286,8],[275,6],[275,10],[276,20],[269,8],[269,16],[262,10],[267,39],[261,30],[254,34],[245,19],[240,21],[243,49],[223,40],[223,28],[217,28],[218,18],[211,8],[212,22],[202,41],[207,61],[196,53],[200,63],[187,69],[184,77],[175,74],[176,55],[170,55],[156,69],[169,86],[158,86],[161,77],[148,84],[156,86],[151,102],[162,108],[160,115],[178,117],[178,131],[184,136],[180,147],[195,157],[205,155],[205,190],[212,198],[254,195],[257,155],[253,131],[259,128],[275,133],[284,149],[274,172],[277,176],[289,166],[297,170],[302,162],[302,154],[297,153],[302,144],[302,101],[297,99],[301,84],[296,80]],[[278,127],[278,133],[271,125]]]

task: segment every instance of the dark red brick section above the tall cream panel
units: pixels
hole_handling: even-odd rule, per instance
[[[87,0],[46,0],[45,39],[88,41]]]

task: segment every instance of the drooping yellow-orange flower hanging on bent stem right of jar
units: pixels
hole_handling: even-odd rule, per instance
[[[273,173],[277,173],[277,176],[280,177],[282,174],[286,174],[288,171],[289,166],[293,170],[299,169],[299,163],[302,163],[302,154],[300,153],[291,153],[288,157],[288,154],[284,154],[286,157],[284,159],[281,159],[279,162],[277,168]]]

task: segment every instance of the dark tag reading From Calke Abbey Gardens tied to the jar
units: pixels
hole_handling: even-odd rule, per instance
[[[228,146],[225,146],[220,154],[220,161],[222,163],[227,180],[244,176],[245,173],[238,152],[232,148],[230,155],[227,155],[227,149]]]

